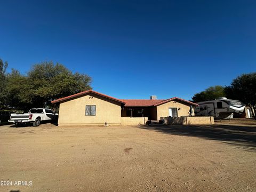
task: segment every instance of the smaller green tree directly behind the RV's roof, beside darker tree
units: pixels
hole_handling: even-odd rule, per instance
[[[207,88],[205,91],[196,93],[192,97],[192,100],[193,102],[210,101],[219,97],[225,97],[224,87],[216,85]]]

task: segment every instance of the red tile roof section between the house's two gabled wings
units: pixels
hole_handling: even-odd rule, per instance
[[[162,102],[162,99],[121,99],[125,102],[125,107],[149,107],[154,106],[158,102]]]

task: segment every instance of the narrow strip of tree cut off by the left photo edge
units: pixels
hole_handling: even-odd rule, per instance
[[[0,108],[6,106],[7,90],[6,90],[6,68],[7,61],[0,59]]]

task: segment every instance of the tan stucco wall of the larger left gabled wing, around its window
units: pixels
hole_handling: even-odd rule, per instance
[[[86,105],[96,106],[95,116],[85,115]],[[60,103],[59,125],[103,125],[105,122],[121,124],[121,103],[92,93]]]

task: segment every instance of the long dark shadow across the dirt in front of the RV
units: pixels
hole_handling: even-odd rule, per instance
[[[256,151],[256,126],[237,125],[142,125],[140,129],[218,140]]]

